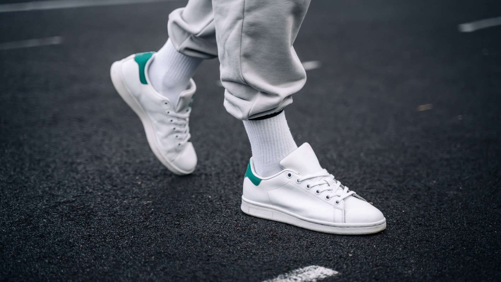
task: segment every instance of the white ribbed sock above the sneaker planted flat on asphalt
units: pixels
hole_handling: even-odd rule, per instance
[[[261,177],[272,176],[280,171],[280,161],[296,150],[285,113],[261,120],[244,120],[252,149],[254,169]]]

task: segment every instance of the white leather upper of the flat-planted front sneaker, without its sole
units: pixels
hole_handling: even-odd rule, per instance
[[[251,158],[244,178],[243,197],[312,222],[364,224],[384,219],[377,208],[322,169],[308,143],[285,157],[280,165],[283,171],[262,178],[256,175]]]

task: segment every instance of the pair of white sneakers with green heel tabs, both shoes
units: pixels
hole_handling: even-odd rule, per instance
[[[154,52],[138,53],[114,62],[111,80],[141,119],[158,160],[174,174],[190,174],[197,163],[188,127],[196,86],[190,79],[177,101],[161,96],[148,78],[154,57]],[[250,158],[243,180],[244,213],[334,234],[370,234],[386,228],[386,219],[377,208],[322,169],[308,143],[280,165],[281,172],[260,177]]]

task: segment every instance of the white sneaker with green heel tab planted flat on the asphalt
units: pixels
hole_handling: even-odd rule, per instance
[[[320,167],[310,144],[280,165],[283,171],[260,177],[250,159],[243,179],[244,213],[334,234],[370,234],[386,228],[377,208]]]

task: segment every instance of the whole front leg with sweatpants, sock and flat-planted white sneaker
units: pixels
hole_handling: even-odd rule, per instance
[[[322,169],[309,144],[297,148],[281,112],[306,80],[292,45],[308,4],[213,0],[224,106],[243,120],[253,151],[241,210],[327,233],[379,232],[383,214]]]

